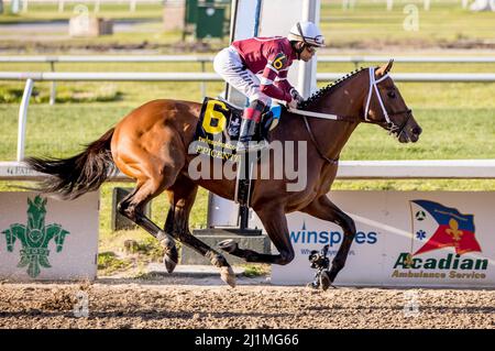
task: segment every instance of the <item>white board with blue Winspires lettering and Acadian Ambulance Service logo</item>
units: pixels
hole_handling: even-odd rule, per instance
[[[495,193],[331,191],[330,198],[358,228],[336,285],[495,286]],[[342,229],[301,213],[287,219],[296,257],[272,266],[272,283],[310,283],[310,251],[328,244],[331,261]]]

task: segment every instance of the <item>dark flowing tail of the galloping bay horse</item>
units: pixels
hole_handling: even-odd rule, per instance
[[[117,169],[110,152],[113,130],[110,129],[84,152],[69,158],[25,158],[32,169],[48,175],[32,189],[59,195],[64,199],[75,199],[97,190]]]

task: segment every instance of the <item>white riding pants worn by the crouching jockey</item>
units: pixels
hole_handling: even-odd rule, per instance
[[[223,48],[215,56],[213,69],[250,101],[260,100],[267,106],[272,103],[272,99],[260,90],[260,78],[244,67],[233,46]]]

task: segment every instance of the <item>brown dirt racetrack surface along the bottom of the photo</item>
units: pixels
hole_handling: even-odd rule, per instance
[[[265,278],[0,284],[0,328],[494,328],[495,292],[272,286]],[[76,317],[77,293],[88,317]],[[417,309],[410,307],[411,295]],[[81,298],[81,295],[79,295]],[[79,300],[81,301],[81,300]],[[76,308],[81,315],[82,309]]]

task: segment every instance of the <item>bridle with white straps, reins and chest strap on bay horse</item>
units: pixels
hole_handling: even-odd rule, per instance
[[[298,110],[298,109],[288,109],[288,111],[290,113],[302,116],[306,129],[308,130],[309,136],[310,136],[312,143],[315,144],[318,153],[320,154],[320,156],[323,160],[326,160],[330,164],[337,164],[339,162],[339,158],[331,160],[331,158],[324,156],[324,154],[321,152],[321,150],[318,145],[315,134],[311,131],[311,128],[309,125],[307,117],[315,117],[315,118],[333,120],[333,121],[344,121],[344,122],[350,122],[350,123],[362,122],[362,123],[378,124],[382,128],[384,128],[385,130],[387,130],[389,134],[394,134],[396,138],[400,136],[400,134],[404,132],[404,130],[407,125],[407,122],[413,117],[413,113],[411,113],[413,111],[410,109],[388,112],[387,109],[385,108],[382,96],[380,94],[378,84],[382,83],[383,80],[385,80],[386,78],[389,78],[388,73],[383,75],[383,77],[381,77],[380,79],[376,79],[375,78],[375,67],[370,67],[369,74],[370,74],[370,89],[369,89],[367,98],[366,98],[366,107],[364,109],[364,119],[361,119],[359,117],[358,118],[356,117],[345,117],[345,116],[338,116],[338,114],[332,114],[332,113],[321,113],[321,112],[305,111],[305,110]],[[380,107],[382,108],[382,113],[384,116],[383,121],[373,121],[369,118],[370,105],[371,105],[371,100],[373,97],[373,91],[375,91],[376,98],[378,99]],[[393,117],[393,116],[399,116],[399,114],[404,114],[404,113],[407,113],[407,118],[405,119],[405,121],[402,124],[397,124],[391,119],[391,116]]]

